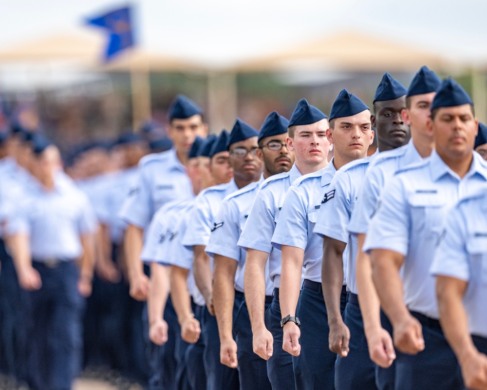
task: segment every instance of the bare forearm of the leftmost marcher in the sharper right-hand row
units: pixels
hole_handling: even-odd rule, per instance
[[[164,309],[169,296],[169,267],[150,263],[150,284],[147,297],[149,324],[164,318]]]

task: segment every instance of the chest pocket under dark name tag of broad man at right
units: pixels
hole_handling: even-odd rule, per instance
[[[428,237],[437,238],[443,227],[446,201],[436,192],[413,194],[411,205],[411,228]]]

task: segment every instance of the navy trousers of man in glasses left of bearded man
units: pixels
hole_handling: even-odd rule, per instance
[[[241,294],[241,293],[240,293]],[[242,294],[243,295],[243,294]],[[242,296],[235,296],[234,317],[237,313]],[[203,308],[201,320],[201,337],[205,350],[203,362],[206,372],[207,390],[238,390],[239,372],[220,363],[220,336],[216,317],[208,312],[206,306]]]

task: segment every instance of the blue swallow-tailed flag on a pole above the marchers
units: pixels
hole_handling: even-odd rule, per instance
[[[133,46],[133,30],[131,23],[131,9],[124,7],[97,18],[89,19],[88,24],[106,29],[109,42],[105,52],[105,59],[109,61],[119,51]]]

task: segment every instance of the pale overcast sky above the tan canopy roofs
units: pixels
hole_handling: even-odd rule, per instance
[[[4,1],[0,49],[74,30],[126,2]],[[487,63],[486,0],[138,0],[138,40],[150,50],[226,64],[358,30]],[[91,29],[90,27],[83,27]]]

